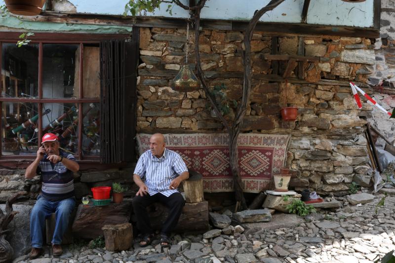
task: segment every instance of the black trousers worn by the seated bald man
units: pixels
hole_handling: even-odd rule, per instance
[[[162,230],[160,231],[160,233],[166,235],[170,234],[170,232],[177,225],[182,208],[185,205],[184,198],[179,192],[173,193],[169,197],[166,197],[161,193],[157,193],[152,196],[149,194],[144,196],[135,196],[132,200],[133,211],[137,218],[137,228],[143,235],[153,233],[150,218],[147,212],[147,206],[156,202],[165,205],[169,209],[169,215],[164,221]]]

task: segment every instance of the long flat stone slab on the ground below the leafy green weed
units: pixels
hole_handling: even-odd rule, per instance
[[[261,223],[244,223],[242,226],[245,229],[278,229],[284,227],[295,227],[299,224],[303,223],[304,219],[295,214],[274,214],[272,216],[272,221],[270,222],[261,222]]]

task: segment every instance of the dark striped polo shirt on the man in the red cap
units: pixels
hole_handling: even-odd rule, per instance
[[[59,155],[63,158],[76,160],[73,154],[59,150]],[[74,176],[73,172],[66,168],[62,162],[52,163],[47,159],[48,155],[40,160],[37,167],[37,174],[41,174],[42,188],[41,195],[49,201],[61,201],[74,197]]]

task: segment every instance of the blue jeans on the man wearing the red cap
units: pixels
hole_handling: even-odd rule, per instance
[[[45,229],[45,218],[55,213],[56,223],[53,233],[52,244],[62,244],[63,234],[69,226],[70,215],[76,206],[74,197],[62,201],[48,201],[41,195],[37,197],[37,202],[30,215],[30,236],[32,238],[32,248],[41,248],[43,244],[43,234]]]

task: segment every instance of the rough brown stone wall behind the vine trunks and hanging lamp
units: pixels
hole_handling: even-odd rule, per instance
[[[202,89],[176,92],[169,87],[170,76],[185,60],[185,30],[143,28],[140,31],[137,132],[219,132],[222,123],[210,111]],[[363,103],[358,110],[347,80],[367,81],[374,70],[375,54],[370,39],[329,36],[304,36],[306,56],[319,57],[319,63],[304,63],[305,80],[268,82],[262,75],[272,73],[272,36],[255,32],[252,39],[252,94],[242,123],[243,131],[291,134],[287,165],[296,171],[297,188],[316,189],[320,193],[346,194],[349,184],[369,170],[365,117],[372,106]],[[190,50],[194,36],[190,34]],[[226,85],[227,97],[239,100],[242,88],[243,45],[241,32],[203,30],[200,36],[202,68],[208,85]],[[280,54],[296,55],[298,36],[278,38]],[[189,62],[193,65],[192,52]],[[280,62],[282,71],[286,61]],[[193,65],[194,66],[194,65]],[[223,77],[221,77],[221,74]],[[231,76],[231,77],[230,77]],[[234,117],[231,105],[227,119]],[[280,109],[296,106],[295,122],[282,121]]]

